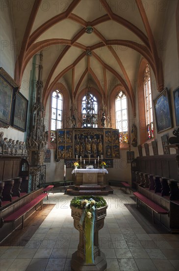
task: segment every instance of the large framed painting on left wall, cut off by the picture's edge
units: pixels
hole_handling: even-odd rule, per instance
[[[10,75],[0,68],[0,127],[7,128],[11,125],[14,94],[18,85]]]

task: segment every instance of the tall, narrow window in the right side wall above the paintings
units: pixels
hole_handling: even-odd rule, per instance
[[[152,104],[152,91],[151,91],[151,75],[149,64],[146,65],[144,74],[144,97],[145,97],[145,114],[146,114],[146,129],[148,139],[154,137],[153,134],[153,104]]]

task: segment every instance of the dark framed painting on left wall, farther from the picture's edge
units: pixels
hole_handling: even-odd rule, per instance
[[[20,93],[16,93],[13,106],[12,126],[26,132],[28,101]]]

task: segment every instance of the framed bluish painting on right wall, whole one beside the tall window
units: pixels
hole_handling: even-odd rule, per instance
[[[153,99],[157,133],[173,127],[170,99],[167,88]]]

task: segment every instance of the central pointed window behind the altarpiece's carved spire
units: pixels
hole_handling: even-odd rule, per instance
[[[89,91],[82,98],[82,127],[98,127],[98,102]]]

